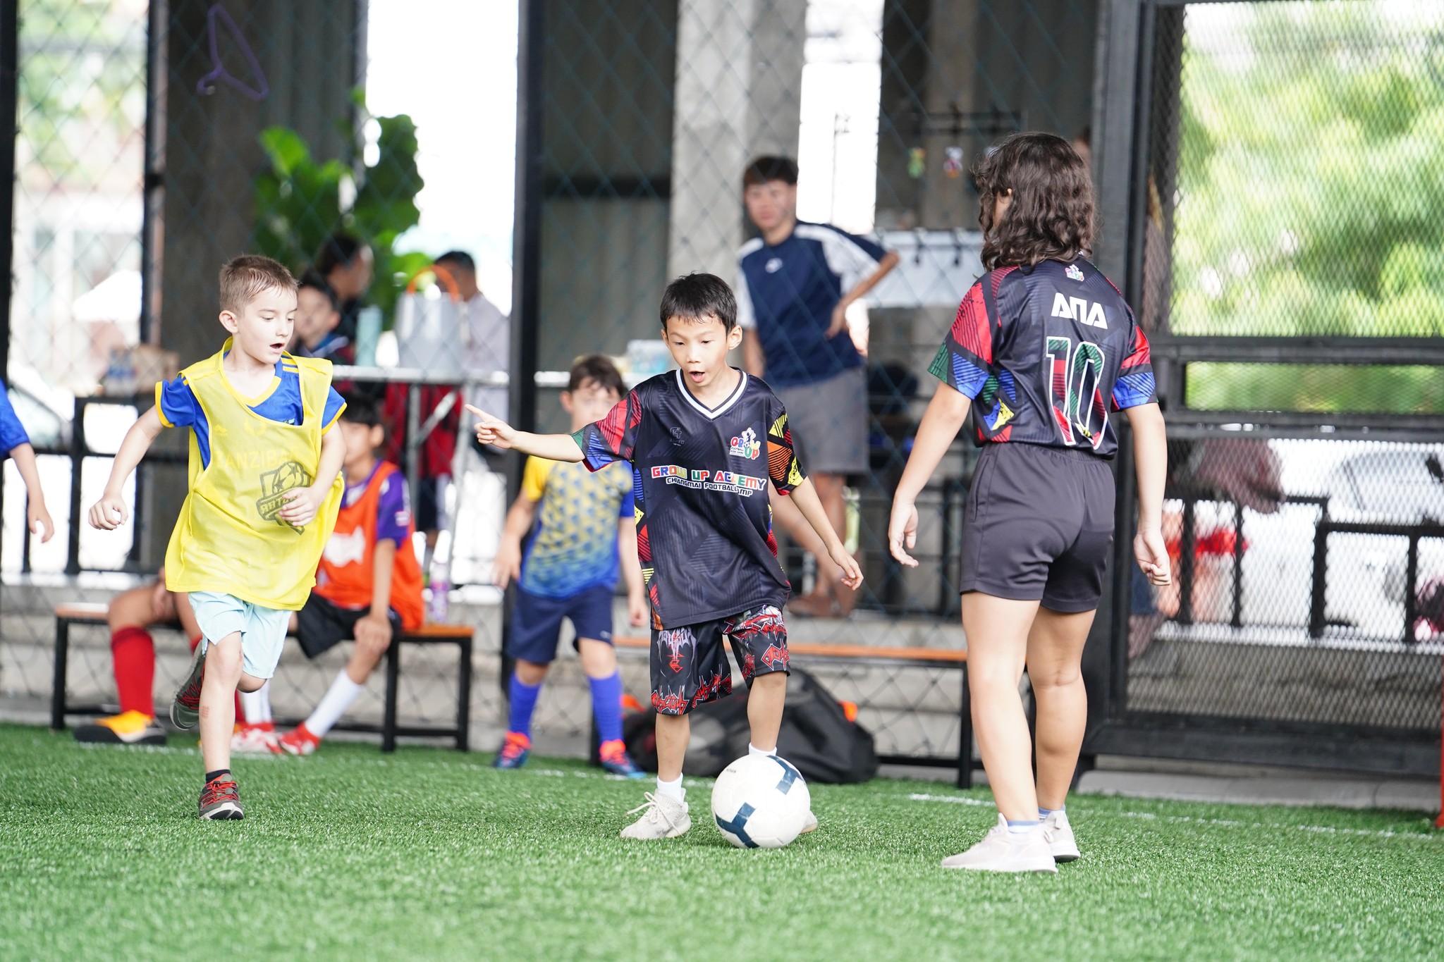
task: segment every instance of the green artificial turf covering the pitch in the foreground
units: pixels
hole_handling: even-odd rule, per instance
[[[944,871],[985,790],[812,786],[822,826],[729,847],[618,829],[645,783],[572,762],[331,744],[238,759],[195,816],[193,738],[0,725],[0,959],[1294,959],[1444,955],[1444,834],[1409,812],[1074,798],[1057,875]]]

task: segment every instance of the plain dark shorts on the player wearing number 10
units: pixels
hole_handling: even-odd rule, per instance
[[[1018,441],[983,447],[963,513],[962,593],[1092,612],[1112,547],[1105,459]]]

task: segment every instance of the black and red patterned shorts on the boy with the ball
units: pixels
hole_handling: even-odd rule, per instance
[[[684,715],[697,705],[732,694],[732,666],[722,636],[742,666],[742,681],[787,674],[787,626],[771,604],[700,625],[651,632],[651,707],[663,715]]]

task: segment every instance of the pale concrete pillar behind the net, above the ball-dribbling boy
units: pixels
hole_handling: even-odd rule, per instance
[[[797,156],[806,0],[680,0],[667,274],[731,278],[742,169]]]

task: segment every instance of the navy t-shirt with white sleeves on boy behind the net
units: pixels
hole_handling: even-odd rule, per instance
[[[738,251],[736,319],[767,359],[767,384],[788,388],[862,366],[846,329],[827,337],[832,312],[887,255],[829,224],[797,224],[781,244],[754,238]]]

